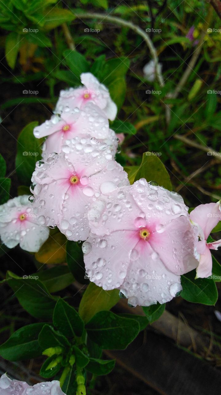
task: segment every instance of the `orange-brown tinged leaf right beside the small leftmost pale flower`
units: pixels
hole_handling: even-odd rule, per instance
[[[35,258],[38,262],[48,265],[64,263],[66,261],[66,241],[65,235],[57,231],[57,233],[48,237],[40,250],[36,252]]]

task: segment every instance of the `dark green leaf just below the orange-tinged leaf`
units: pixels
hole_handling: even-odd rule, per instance
[[[67,266],[55,266],[50,269],[38,271],[34,275],[39,276],[39,280],[46,286],[48,292],[58,292],[68,287],[74,282],[74,276]]]

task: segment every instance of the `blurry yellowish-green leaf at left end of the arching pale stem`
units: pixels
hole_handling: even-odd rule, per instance
[[[76,18],[74,12],[64,8],[52,8],[49,12],[45,11],[45,14],[43,18],[44,30],[54,29],[62,23],[71,22]]]

